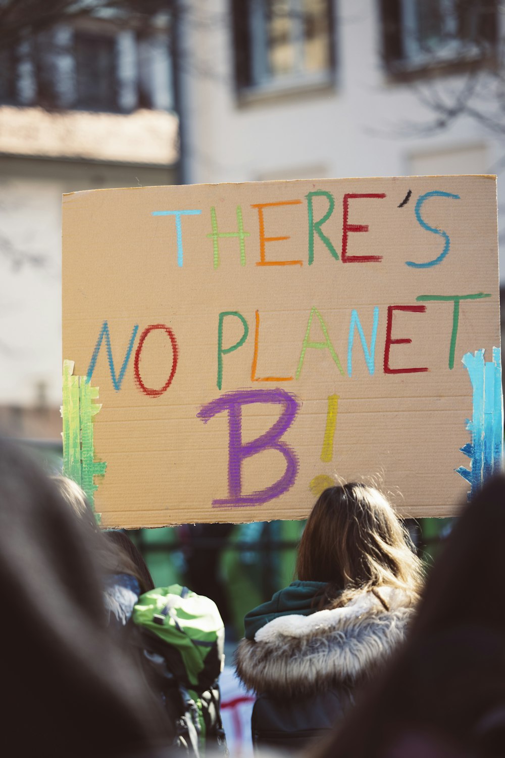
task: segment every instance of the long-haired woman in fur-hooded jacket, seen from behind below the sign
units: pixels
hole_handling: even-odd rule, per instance
[[[257,693],[253,741],[298,750],[326,735],[404,639],[422,567],[385,497],[329,487],[301,537],[298,581],[245,617],[238,676]]]

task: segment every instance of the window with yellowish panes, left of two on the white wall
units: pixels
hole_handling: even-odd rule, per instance
[[[234,0],[238,90],[328,83],[331,0]]]

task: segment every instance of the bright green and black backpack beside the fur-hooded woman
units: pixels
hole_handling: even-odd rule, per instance
[[[132,619],[146,675],[175,725],[175,746],[196,756],[207,745],[227,753],[218,684],[224,626],[216,604],[172,584],[141,595]]]

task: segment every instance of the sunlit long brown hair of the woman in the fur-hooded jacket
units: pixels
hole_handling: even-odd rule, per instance
[[[360,590],[396,587],[416,600],[422,564],[385,497],[366,484],[329,487],[313,507],[298,547],[301,581],[324,581],[322,604],[338,607]]]

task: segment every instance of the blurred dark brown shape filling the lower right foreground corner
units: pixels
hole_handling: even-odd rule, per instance
[[[432,738],[438,755],[446,754],[447,743],[455,745],[451,755],[503,756],[503,503],[500,475],[463,508],[429,574],[404,647],[332,740],[310,756],[409,755],[401,745],[409,736],[421,746]]]

